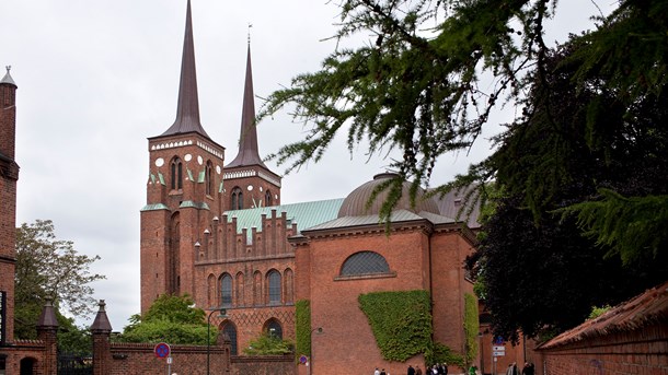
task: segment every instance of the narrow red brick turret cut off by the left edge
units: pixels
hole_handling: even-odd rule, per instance
[[[14,265],[16,262],[16,84],[0,80],[0,347],[13,341]],[[3,368],[3,367],[0,367]]]

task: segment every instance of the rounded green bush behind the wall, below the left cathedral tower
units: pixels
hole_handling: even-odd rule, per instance
[[[216,342],[218,329],[207,327],[206,313],[194,307],[188,295],[162,294],[143,315],[133,315],[117,339],[124,342],[207,344]]]

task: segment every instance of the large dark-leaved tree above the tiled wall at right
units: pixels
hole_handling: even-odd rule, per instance
[[[535,336],[571,328],[592,305],[618,303],[668,273],[666,254],[643,246],[665,247],[668,238],[653,226],[661,220],[661,204],[653,195],[668,192],[663,151],[668,98],[647,94],[626,106],[607,87],[604,72],[590,72],[577,86],[573,78],[586,40],[574,37],[545,56],[549,72],[533,77],[525,115],[502,134],[498,150],[480,168],[494,173],[504,198],[495,200],[469,266],[477,268],[480,295],[493,312],[496,333],[506,338],[517,339],[518,330]],[[592,103],[606,124],[608,142],[602,144],[592,144],[588,130]],[[583,232],[581,219],[568,214],[598,209],[604,203],[597,196],[608,189],[640,196],[635,200],[645,208],[627,204],[613,215],[602,214],[608,225],[625,222],[631,227],[614,243]],[[622,212],[636,216],[620,221]],[[621,258],[611,257],[619,254],[614,245],[626,246]]]

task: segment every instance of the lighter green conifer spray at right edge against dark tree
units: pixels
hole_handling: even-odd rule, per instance
[[[668,238],[668,196],[625,198],[609,189],[598,191],[601,200],[567,207],[564,215],[576,214],[584,234],[609,247],[607,256],[620,256],[625,265],[648,253],[658,256]]]

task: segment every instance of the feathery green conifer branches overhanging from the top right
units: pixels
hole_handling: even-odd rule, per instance
[[[400,199],[401,184],[412,180],[413,195],[417,186],[428,185],[436,160],[470,148],[495,107],[515,105],[525,109],[517,112],[520,118],[525,116],[530,110],[527,92],[550,71],[543,22],[558,12],[555,0],[345,0],[341,10],[335,35],[339,42],[360,33],[372,35],[371,39],[334,51],[320,71],[300,74],[289,87],[274,92],[260,118],[293,105],[295,119],[309,127],[303,140],[272,155],[279,164],[288,164],[286,172],[318,162],[341,131],[347,131],[350,152],[365,139],[370,154],[401,150],[403,157],[391,163],[400,177],[392,181],[394,188],[382,208],[384,219]],[[576,52],[580,63],[571,75],[575,91],[586,89],[592,72],[603,74],[608,97],[620,105],[612,114],[620,118],[632,116],[637,98],[658,96],[668,80],[667,11],[666,0],[625,0],[608,17],[597,17],[598,28],[583,37]],[[483,89],[481,82],[491,89]],[[586,117],[580,129],[588,139],[586,147],[609,141],[606,119],[612,114],[603,110],[604,99],[590,101],[580,113]],[[534,213],[540,210],[537,196],[557,189],[558,172],[566,167],[558,164],[562,150],[544,151],[541,162],[552,161],[556,174],[548,174],[548,180],[522,192],[522,203]],[[435,191],[445,194],[472,181],[484,187],[496,172],[476,165],[469,175]],[[659,198],[666,207],[668,199]],[[600,231],[621,225],[596,224],[610,218],[601,211],[587,212],[590,218],[580,223],[592,235],[602,234],[602,242],[619,237]]]

